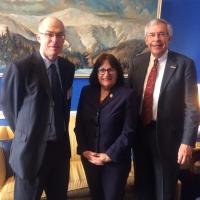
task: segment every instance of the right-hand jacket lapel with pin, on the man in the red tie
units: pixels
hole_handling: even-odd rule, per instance
[[[176,71],[177,63],[175,61],[175,57],[172,55],[171,52],[168,53],[167,63],[165,66],[165,71],[163,75],[163,80],[161,84],[160,94],[164,91],[164,89],[167,87],[172,75]]]

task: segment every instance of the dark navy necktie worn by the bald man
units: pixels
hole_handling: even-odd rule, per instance
[[[56,65],[51,64],[48,68],[48,77],[51,86],[51,93],[53,98],[54,115],[51,120],[51,131],[49,133],[51,138],[58,138],[59,134],[64,132],[64,111],[63,111],[63,95],[61,85],[56,71]]]

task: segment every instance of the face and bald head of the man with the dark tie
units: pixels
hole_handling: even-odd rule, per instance
[[[45,18],[39,25],[37,40],[40,52],[49,60],[55,60],[63,49],[64,26],[54,17]]]

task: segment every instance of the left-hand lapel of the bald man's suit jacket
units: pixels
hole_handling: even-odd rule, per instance
[[[37,74],[38,74],[38,77],[39,77],[39,80],[40,80],[42,86],[44,87],[48,96],[51,97],[51,89],[50,89],[50,85],[49,85],[49,79],[47,76],[44,61],[39,52],[37,52],[35,54],[34,65],[35,65],[35,69],[37,70]]]

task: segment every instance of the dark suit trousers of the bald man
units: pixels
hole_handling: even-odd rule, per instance
[[[43,190],[47,200],[66,200],[69,164],[63,145],[48,142],[38,176],[33,180],[22,180],[15,175],[14,200],[40,200]]]

